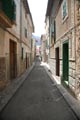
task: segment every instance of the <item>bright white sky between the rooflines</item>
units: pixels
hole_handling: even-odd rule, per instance
[[[28,0],[35,27],[35,35],[41,36],[45,33],[45,15],[48,0]]]

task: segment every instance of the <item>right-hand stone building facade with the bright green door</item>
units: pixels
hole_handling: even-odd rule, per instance
[[[46,16],[53,45],[49,55],[51,70],[80,99],[80,1],[49,0]]]

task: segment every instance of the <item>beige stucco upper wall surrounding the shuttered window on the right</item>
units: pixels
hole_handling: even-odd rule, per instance
[[[56,16],[56,40],[60,39],[71,27],[71,0],[67,0],[68,16],[65,20],[62,19],[62,4]]]

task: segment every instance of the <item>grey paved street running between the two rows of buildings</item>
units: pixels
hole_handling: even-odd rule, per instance
[[[40,62],[0,113],[0,120],[77,120]]]

